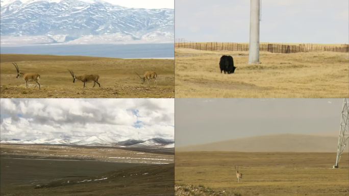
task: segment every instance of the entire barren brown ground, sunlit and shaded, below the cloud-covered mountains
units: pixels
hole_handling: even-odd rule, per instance
[[[174,194],[173,151],[7,144],[0,151],[4,196]]]

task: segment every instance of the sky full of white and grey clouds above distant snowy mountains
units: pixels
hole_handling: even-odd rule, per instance
[[[173,99],[1,99],[1,139],[174,137]]]

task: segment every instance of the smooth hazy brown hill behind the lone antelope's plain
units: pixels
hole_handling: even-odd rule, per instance
[[[231,139],[176,148],[176,151],[336,152],[338,136],[280,134]],[[346,146],[348,152],[348,145]]]

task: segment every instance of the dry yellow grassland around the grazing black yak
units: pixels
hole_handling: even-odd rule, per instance
[[[232,55],[235,74],[219,70],[221,55]],[[176,48],[176,97],[346,97],[347,53],[261,52],[261,64],[248,65],[248,52]]]

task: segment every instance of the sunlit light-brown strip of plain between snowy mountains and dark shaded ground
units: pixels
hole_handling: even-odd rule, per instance
[[[106,162],[173,163],[173,149],[113,148],[108,146],[64,146],[1,144],[1,155],[76,158]],[[127,159],[132,157],[133,159]]]

